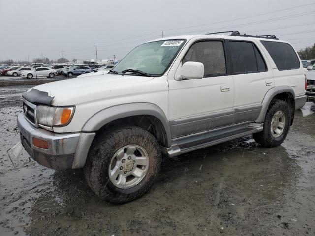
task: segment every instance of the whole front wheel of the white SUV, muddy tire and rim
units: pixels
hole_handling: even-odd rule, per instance
[[[160,164],[160,146],[152,134],[137,126],[121,126],[95,137],[84,173],[100,198],[126,203],[150,189]]]

